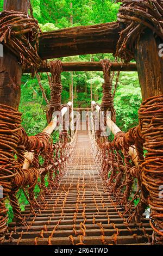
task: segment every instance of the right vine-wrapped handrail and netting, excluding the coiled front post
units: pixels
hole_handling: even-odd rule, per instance
[[[92,101],[92,109],[96,108],[99,112],[101,107]],[[94,116],[95,117],[95,116]],[[98,135],[101,129],[95,132],[96,118],[92,115],[92,132],[89,131],[90,143],[92,146],[92,155],[97,164],[101,180],[109,188],[109,193],[116,197],[116,205],[124,204],[123,214],[130,213],[133,202],[137,197],[140,202],[136,205],[135,211],[132,212],[125,222],[135,221],[139,223],[141,217],[148,206],[146,192],[141,184],[141,162],[143,161],[143,142],[140,135],[140,126],[130,129],[128,132],[122,132],[119,127],[110,119],[106,118],[106,125],[109,127],[115,138],[108,142]],[[99,122],[99,120],[98,120]],[[133,145],[135,144],[135,146]],[[134,190],[133,185],[137,185]],[[121,194],[121,197],[119,197]],[[125,219],[125,218],[124,218]]]

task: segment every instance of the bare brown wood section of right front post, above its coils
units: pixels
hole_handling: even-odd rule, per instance
[[[163,94],[163,57],[159,56],[161,40],[146,29],[136,44],[135,60],[142,99]]]

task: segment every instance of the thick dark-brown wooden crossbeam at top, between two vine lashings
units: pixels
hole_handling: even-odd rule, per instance
[[[80,54],[113,53],[116,51],[120,30],[118,22],[110,22],[46,32],[39,40],[39,56],[42,59],[52,59]]]

